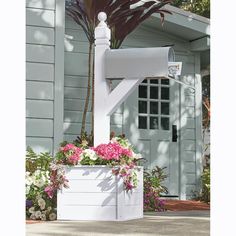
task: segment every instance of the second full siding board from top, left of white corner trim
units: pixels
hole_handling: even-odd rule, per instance
[[[26,26],[26,43],[54,45],[54,29]]]

